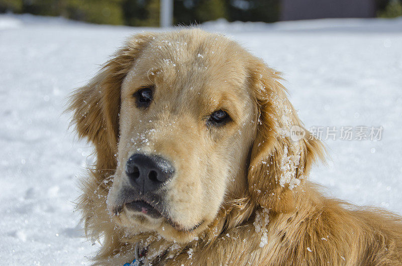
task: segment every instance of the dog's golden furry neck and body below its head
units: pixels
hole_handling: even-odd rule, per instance
[[[91,171],[90,178],[83,180],[84,193],[78,202],[87,235],[92,241],[103,239],[95,264],[122,265],[132,261],[138,242],[147,249],[146,259],[153,265],[286,264],[290,261],[295,264],[326,261],[334,265],[347,261],[395,264],[401,259],[400,216],[383,210],[352,210],[354,206],[323,197],[309,182],[294,192],[296,207],[286,213],[268,213],[247,195],[228,199],[208,229],[185,244],[166,240],[156,233],[132,235],[117,227],[107,212],[106,197],[111,182],[105,182],[108,180],[105,177],[109,175]],[[344,242],[350,244],[341,244]],[[376,255],[361,256],[367,252]]]

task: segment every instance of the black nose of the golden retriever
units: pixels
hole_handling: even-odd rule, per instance
[[[173,172],[173,166],[159,156],[134,154],[126,163],[130,184],[142,193],[161,187],[172,177]]]

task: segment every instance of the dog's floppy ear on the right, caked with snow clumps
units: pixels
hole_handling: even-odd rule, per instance
[[[258,124],[248,170],[248,188],[258,205],[273,212],[287,212],[295,208],[296,187],[303,182],[316,159],[324,160],[325,150],[299,120],[279,82],[279,74],[261,60],[251,60],[250,86],[256,101]],[[292,138],[291,133],[295,134]]]

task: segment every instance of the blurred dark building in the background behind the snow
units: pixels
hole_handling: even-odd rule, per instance
[[[373,18],[374,0],[281,0],[280,20]]]

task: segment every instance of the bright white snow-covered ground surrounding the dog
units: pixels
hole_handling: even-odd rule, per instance
[[[284,72],[307,127],[382,125],[381,141],[326,141],[332,160],[311,179],[331,196],[402,214],[402,19],[203,27]],[[61,113],[66,95],[144,30],[0,15],[0,264],[89,263],[96,243],[79,237],[72,202],[91,149]]]

